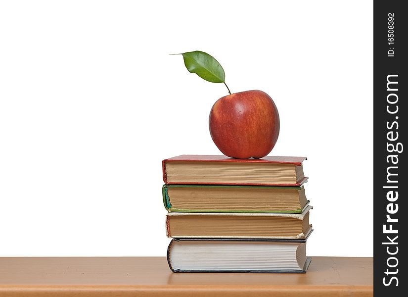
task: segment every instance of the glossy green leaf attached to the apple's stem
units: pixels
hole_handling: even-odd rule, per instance
[[[191,73],[212,83],[225,83],[225,72],[220,63],[204,51],[195,50],[181,54],[184,65]]]

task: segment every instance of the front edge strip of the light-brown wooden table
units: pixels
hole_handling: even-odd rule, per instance
[[[372,296],[373,286],[205,286],[205,285],[167,285],[167,286],[132,286],[132,285],[0,285],[2,296],[41,296],[58,294],[58,296],[112,296],[120,293],[121,296],[148,294],[151,296],[248,296],[257,293],[257,296]],[[342,293],[339,295],[339,293]]]

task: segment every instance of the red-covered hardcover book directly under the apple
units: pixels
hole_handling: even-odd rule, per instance
[[[163,160],[163,180],[179,185],[300,186],[306,157],[234,159],[224,155],[180,155]]]

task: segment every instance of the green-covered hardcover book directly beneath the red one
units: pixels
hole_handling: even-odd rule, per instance
[[[171,212],[301,213],[309,204],[299,187],[164,185],[163,203]]]

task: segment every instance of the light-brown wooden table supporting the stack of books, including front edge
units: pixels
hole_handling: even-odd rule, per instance
[[[165,257],[4,257],[7,296],[372,296],[372,258],[313,257],[306,274],[172,273]]]

